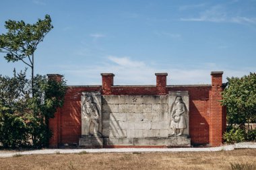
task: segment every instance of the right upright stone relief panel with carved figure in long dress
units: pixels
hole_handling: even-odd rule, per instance
[[[189,135],[189,94],[170,91],[168,96],[169,135]]]

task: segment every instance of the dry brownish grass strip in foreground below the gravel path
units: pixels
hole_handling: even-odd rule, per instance
[[[256,168],[256,149],[191,153],[83,153],[0,159],[0,169],[232,169]]]

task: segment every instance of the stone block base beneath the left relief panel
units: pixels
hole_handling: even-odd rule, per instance
[[[79,138],[79,146],[88,148],[102,148],[103,138],[96,136],[82,136],[82,138]]]

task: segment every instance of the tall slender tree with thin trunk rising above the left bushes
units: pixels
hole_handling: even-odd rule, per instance
[[[31,69],[32,95],[34,96],[34,52],[53,26],[50,15],[38,19],[36,24],[26,24],[24,21],[5,22],[6,34],[0,35],[0,52],[4,52],[8,62],[22,60]]]

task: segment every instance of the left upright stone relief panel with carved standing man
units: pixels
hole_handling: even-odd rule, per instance
[[[102,135],[102,97],[99,92],[83,92],[82,104],[82,136]]]

